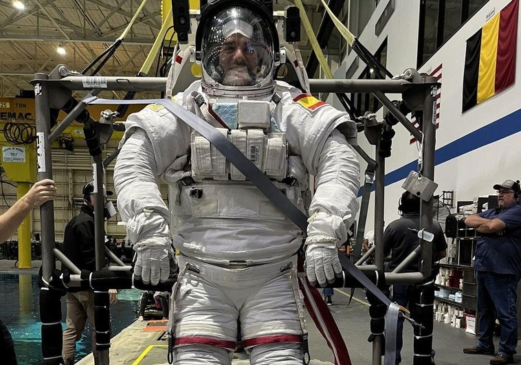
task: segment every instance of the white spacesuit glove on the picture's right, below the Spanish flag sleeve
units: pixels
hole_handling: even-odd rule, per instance
[[[335,283],[335,276],[342,276],[342,265],[335,243],[316,242],[307,245],[306,274],[311,285]]]

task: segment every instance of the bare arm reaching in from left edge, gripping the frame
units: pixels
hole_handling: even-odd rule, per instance
[[[37,181],[23,197],[0,216],[0,242],[7,240],[16,232],[27,214],[45,201],[56,197],[56,186],[51,179]]]

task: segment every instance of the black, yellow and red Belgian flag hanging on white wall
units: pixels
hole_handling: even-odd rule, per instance
[[[467,39],[462,112],[506,89],[516,79],[519,0],[512,0]]]

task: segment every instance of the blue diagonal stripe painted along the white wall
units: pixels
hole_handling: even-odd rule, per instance
[[[437,149],[434,155],[434,165],[443,164],[443,162],[465,155],[465,153],[487,146],[487,144],[498,142],[520,131],[521,109]],[[397,181],[405,179],[411,170],[417,170],[417,164],[417,160],[414,160],[386,174],[385,185],[394,184]],[[373,190],[375,190],[374,185],[371,191]],[[358,190],[359,197],[362,196],[363,191],[363,187]]]

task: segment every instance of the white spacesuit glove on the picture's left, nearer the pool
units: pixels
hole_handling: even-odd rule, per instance
[[[159,280],[166,281],[170,274],[167,247],[143,247],[137,251],[134,265],[134,276],[143,283],[157,285]]]

